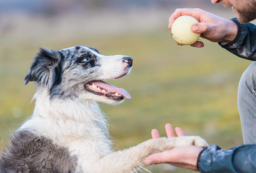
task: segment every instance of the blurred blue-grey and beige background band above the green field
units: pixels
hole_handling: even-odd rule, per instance
[[[210,0],[0,0],[0,39],[40,42],[41,37],[68,40],[74,33],[99,36],[168,29],[169,16],[184,7],[235,17],[231,8]]]

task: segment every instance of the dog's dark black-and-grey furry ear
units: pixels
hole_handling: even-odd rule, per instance
[[[30,66],[24,79],[24,85],[35,81],[37,85],[46,85],[50,90],[56,82],[61,80],[60,68],[58,66],[59,54],[57,51],[39,48],[39,52]]]

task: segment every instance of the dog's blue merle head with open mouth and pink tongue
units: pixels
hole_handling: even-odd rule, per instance
[[[131,71],[133,59],[123,55],[104,56],[96,49],[75,46],[60,51],[40,48],[24,79],[47,89],[50,98],[78,98],[117,104],[131,99],[122,88],[103,80],[122,78]]]

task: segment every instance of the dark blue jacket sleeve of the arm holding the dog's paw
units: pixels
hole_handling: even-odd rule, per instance
[[[212,144],[198,156],[200,172],[256,173],[256,145],[238,145],[229,150]]]

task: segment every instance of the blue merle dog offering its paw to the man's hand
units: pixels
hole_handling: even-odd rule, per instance
[[[108,121],[98,103],[131,99],[104,80],[131,71],[128,56],[104,56],[85,46],[55,51],[40,48],[24,79],[35,82],[35,108],[14,131],[0,158],[2,173],[130,173],[156,152],[207,143],[197,136],[150,139],[114,151]]]

